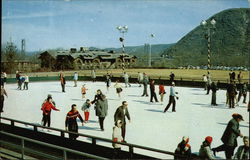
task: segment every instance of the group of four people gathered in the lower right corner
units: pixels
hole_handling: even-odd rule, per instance
[[[216,153],[224,151],[226,159],[238,159],[248,160],[249,156],[249,137],[243,136],[239,129],[239,123],[243,121],[243,117],[240,114],[234,113],[232,119],[228,122],[227,127],[221,137],[222,145],[211,148],[213,138],[211,136],[205,137],[200,146],[198,156],[192,154],[191,145],[189,144],[189,138],[184,136],[182,141],[178,144],[175,150],[174,159],[216,159]],[[243,138],[243,145],[239,146],[236,153],[234,152],[237,144],[237,138]]]

